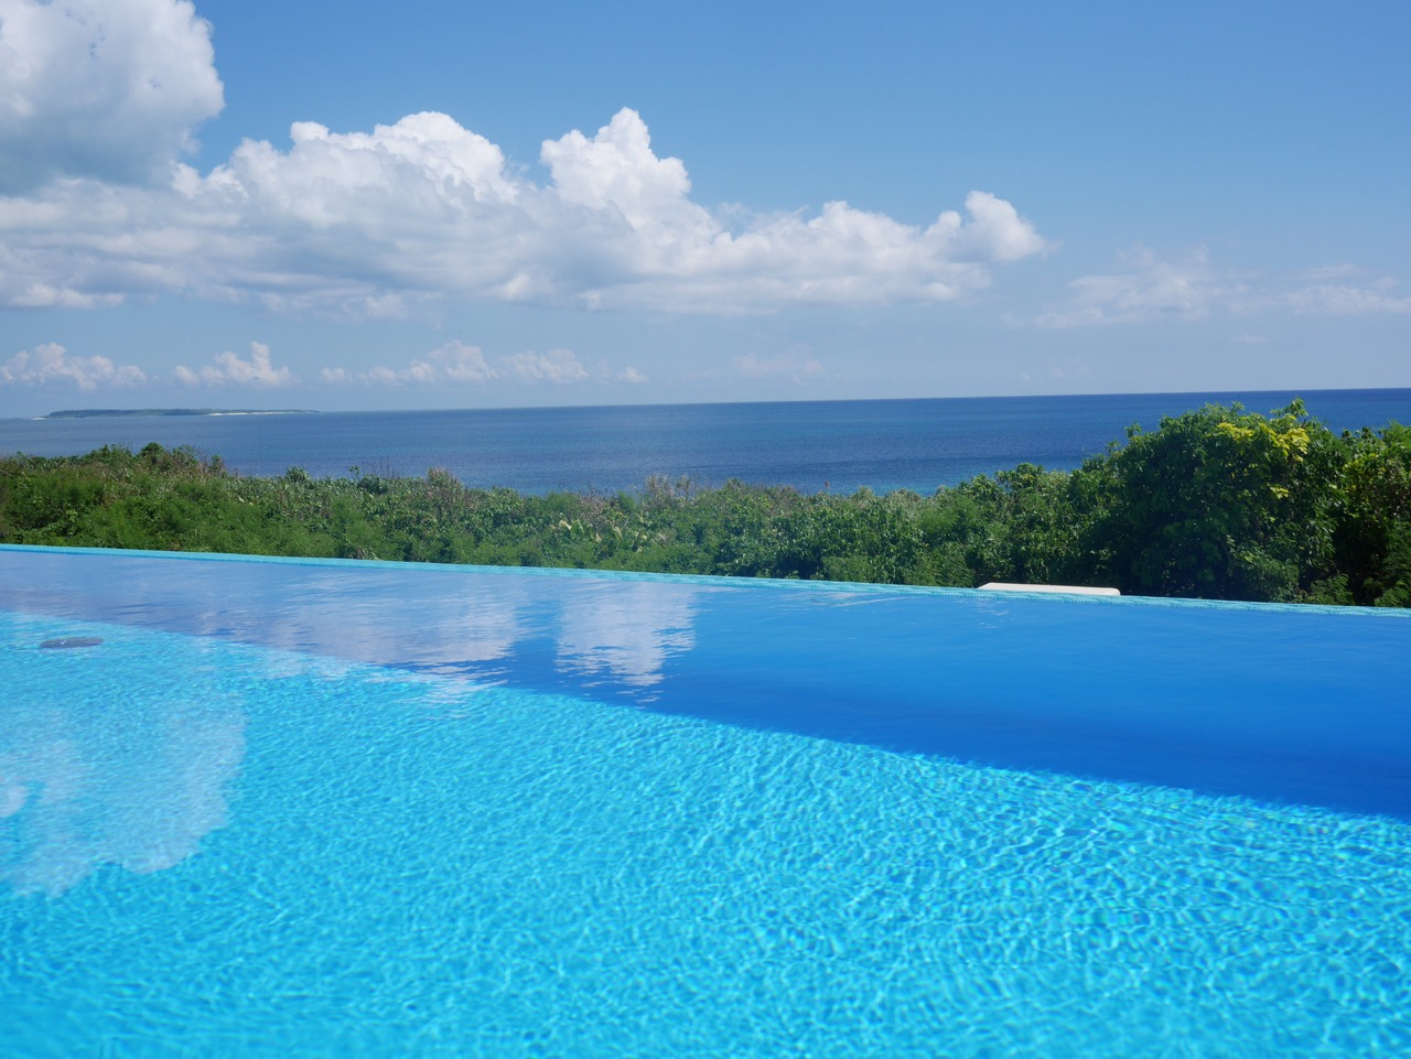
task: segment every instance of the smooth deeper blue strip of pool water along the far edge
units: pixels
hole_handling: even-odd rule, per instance
[[[24,547],[0,587],[16,611],[1411,818],[1403,611]]]

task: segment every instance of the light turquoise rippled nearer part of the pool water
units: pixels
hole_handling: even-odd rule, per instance
[[[1404,821],[117,625],[0,642],[17,1056],[1411,1051]]]

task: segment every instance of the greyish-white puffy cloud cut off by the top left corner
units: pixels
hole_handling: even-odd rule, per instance
[[[165,175],[223,103],[189,0],[0,0],[0,193]]]

